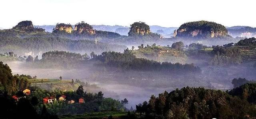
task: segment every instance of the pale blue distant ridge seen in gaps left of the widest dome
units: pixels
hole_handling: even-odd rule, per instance
[[[46,32],[52,32],[53,28],[55,25],[42,25],[42,26],[34,26],[38,28],[43,28],[45,29]],[[72,25],[74,28],[74,25]],[[128,32],[130,30],[130,27],[128,26],[120,26],[120,25],[92,25],[92,27],[96,30],[101,30],[101,31],[107,31],[107,32],[115,32],[120,35],[125,35],[128,36]],[[150,26],[151,32],[157,33],[157,30],[162,30],[163,32],[161,33],[162,36],[169,38],[172,36],[174,30],[178,29],[177,27],[162,27],[162,26]]]

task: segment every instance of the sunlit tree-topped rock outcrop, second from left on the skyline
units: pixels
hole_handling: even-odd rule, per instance
[[[56,24],[55,28],[53,28],[54,33],[57,32],[66,32],[68,34],[71,34],[73,31],[73,27],[70,24],[64,24],[64,23],[58,23]]]

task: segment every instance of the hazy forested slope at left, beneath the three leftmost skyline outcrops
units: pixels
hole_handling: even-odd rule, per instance
[[[21,33],[0,30],[0,52],[15,52],[18,55],[41,55],[52,50],[100,54],[104,51],[123,51],[126,46],[106,44],[90,40],[71,40],[47,32]],[[26,53],[26,54],[25,54]]]

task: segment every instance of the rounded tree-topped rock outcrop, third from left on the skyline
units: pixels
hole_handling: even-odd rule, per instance
[[[96,34],[96,30],[94,30],[91,25],[85,22],[77,23],[75,25],[74,31],[81,34],[83,33],[87,33],[90,35]]]

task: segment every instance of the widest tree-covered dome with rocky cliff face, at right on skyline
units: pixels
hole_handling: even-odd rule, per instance
[[[215,22],[197,21],[182,24],[174,31],[175,37],[186,38],[219,38],[228,36],[225,26]]]

